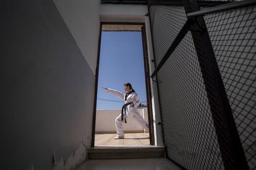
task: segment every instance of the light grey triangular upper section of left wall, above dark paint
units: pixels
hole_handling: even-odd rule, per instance
[[[97,62],[95,56],[97,56],[100,33],[100,0],[53,0],[53,2],[95,74]]]

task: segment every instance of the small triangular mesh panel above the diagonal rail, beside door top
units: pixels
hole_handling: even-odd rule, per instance
[[[155,59],[158,64],[163,59],[169,46],[186,22],[184,7],[151,6],[151,28],[155,47]]]

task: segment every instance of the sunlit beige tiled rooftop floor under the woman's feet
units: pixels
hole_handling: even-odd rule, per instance
[[[95,134],[95,147],[97,146],[149,146],[148,133],[124,134],[125,139],[114,139],[116,134]]]

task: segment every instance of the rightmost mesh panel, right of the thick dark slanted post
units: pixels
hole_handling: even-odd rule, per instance
[[[204,18],[249,168],[256,169],[256,7]]]

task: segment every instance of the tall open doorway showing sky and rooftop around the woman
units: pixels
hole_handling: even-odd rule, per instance
[[[146,131],[134,119],[123,123],[125,139],[114,140],[114,119],[121,113],[124,101],[101,87],[124,92],[124,83],[131,83],[139,95],[140,115],[148,122]],[[147,41],[143,23],[101,23],[96,67],[95,107],[92,147],[153,145],[150,78]]]

